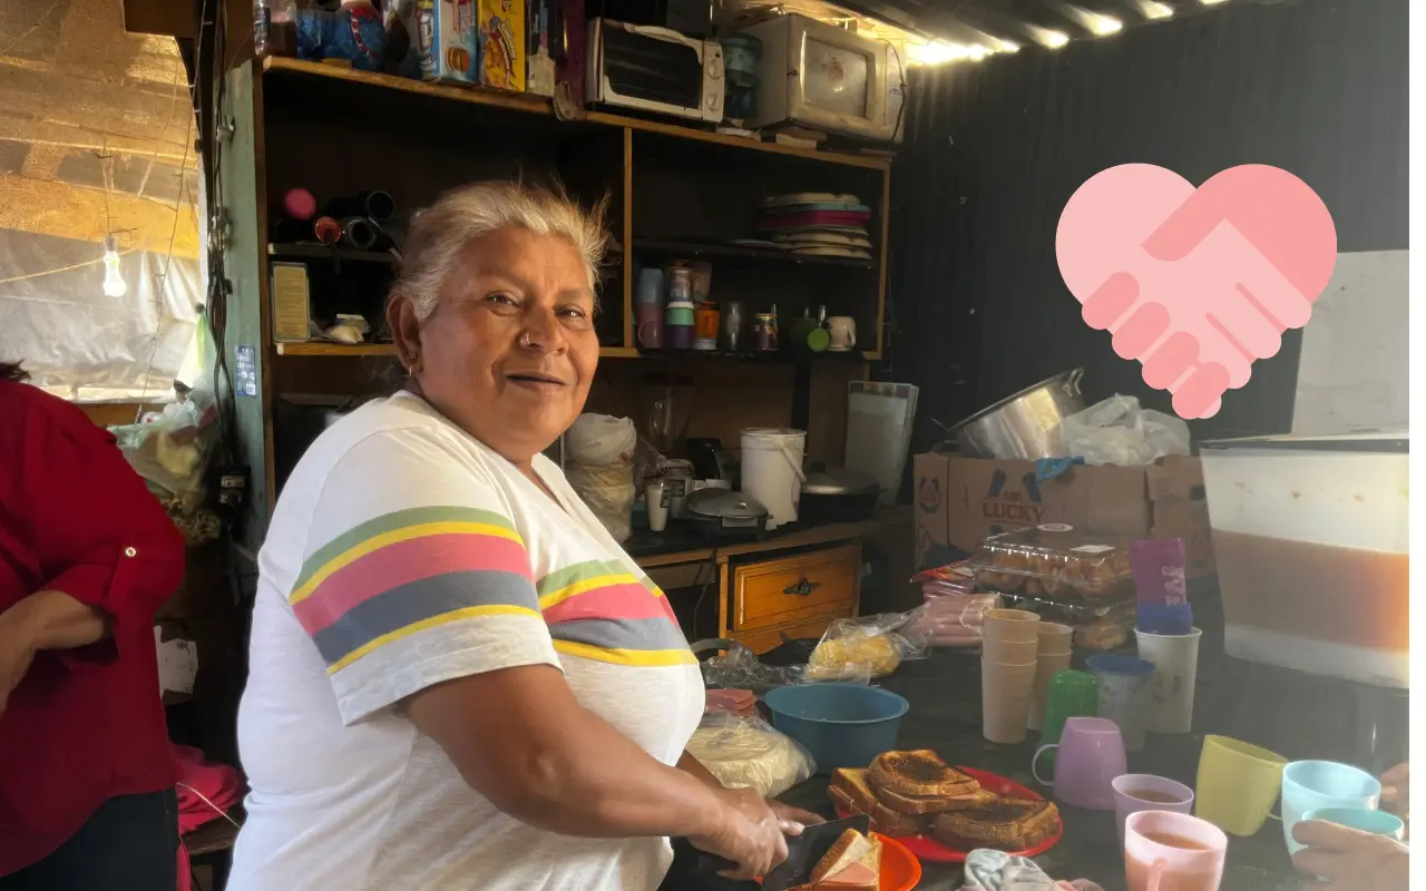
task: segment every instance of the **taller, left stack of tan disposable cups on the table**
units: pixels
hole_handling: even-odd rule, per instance
[[[981,632],[981,733],[991,743],[1020,743],[1035,693],[1040,616],[990,610]]]

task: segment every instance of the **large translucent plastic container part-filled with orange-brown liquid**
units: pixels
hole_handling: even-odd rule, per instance
[[[1405,433],[1202,446],[1228,654],[1409,687]]]

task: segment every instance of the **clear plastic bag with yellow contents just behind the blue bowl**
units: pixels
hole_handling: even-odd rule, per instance
[[[806,680],[884,677],[907,659],[925,659],[935,636],[927,607],[860,619],[833,619],[807,661]]]

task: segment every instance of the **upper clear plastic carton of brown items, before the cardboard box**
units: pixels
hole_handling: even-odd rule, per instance
[[[1129,542],[1068,523],[992,535],[968,560],[975,582],[1002,593],[1099,602],[1134,593]]]

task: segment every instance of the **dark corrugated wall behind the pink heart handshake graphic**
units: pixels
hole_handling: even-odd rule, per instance
[[[1168,411],[1091,331],[1054,258],[1060,211],[1095,172],[1151,163],[1192,182],[1273,164],[1312,185],[1340,251],[1406,248],[1406,0],[1232,3],[1184,20],[924,70],[893,177],[894,374],[923,386],[915,448],[1058,371],[1089,399]],[[1253,366],[1199,436],[1292,425],[1301,336]]]

